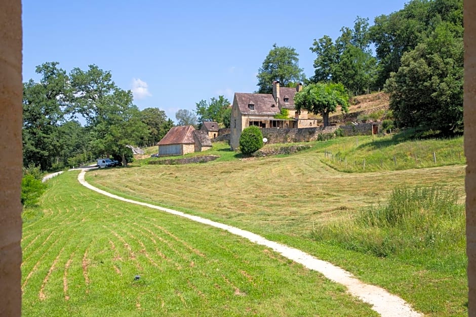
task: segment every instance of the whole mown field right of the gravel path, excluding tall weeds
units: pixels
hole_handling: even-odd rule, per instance
[[[162,166],[144,161],[128,168],[92,171],[86,179],[124,197],[208,217],[299,248],[400,295],[424,313],[466,314],[464,241],[449,245],[446,253],[422,252],[426,258],[409,254],[379,257],[313,237],[320,225],[349,221],[362,208],[386,202],[394,189],[438,185],[450,188],[459,202],[464,199],[462,164],[438,166],[445,165],[439,162],[431,168],[390,170],[389,166],[387,170],[349,173],[326,163],[326,151],[350,151],[356,139],[315,143],[312,149],[295,155],[262,159],[240,158],[226,146],[216,145],[213,151],[222,157],[214,162]],[[412,144],[421,147],[416,141],[409,144],[395,139],[379,148],[371,146],[375,143],[371,137],[358,140],[357,151],[368,155],[399,151],[398,147],[411,148]],[[434,149],[462,144],[462,139],[454,140],[452,145],[442,143]],[[455,225],[464,231],[464,223]]]

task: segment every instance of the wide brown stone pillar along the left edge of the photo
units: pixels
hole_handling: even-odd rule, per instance
[[[0,1],[0,316],[21,314],[21,1]]]

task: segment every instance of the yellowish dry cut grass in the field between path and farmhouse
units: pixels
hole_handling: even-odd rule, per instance
[[[383,201],[395,187],[453,186],[464,193],[462,165],[341,173],[322,153],[182,166],[97,171],[88,181],[158,204],[184,208],[261,232],[306,235],[314,222]]]

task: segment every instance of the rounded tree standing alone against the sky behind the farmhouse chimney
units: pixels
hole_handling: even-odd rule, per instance
[[[273,81],[279,81],[283,86],[290,83],[301,82],[305,79],[302,68],[299,68],[299,54],[290,47],[273,48],[258,69],[258,93],[271,94]]]

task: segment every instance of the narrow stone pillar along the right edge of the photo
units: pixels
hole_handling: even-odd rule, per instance
[[[464,152],[469,316],[476,316],[476,2],[464,0]]]

